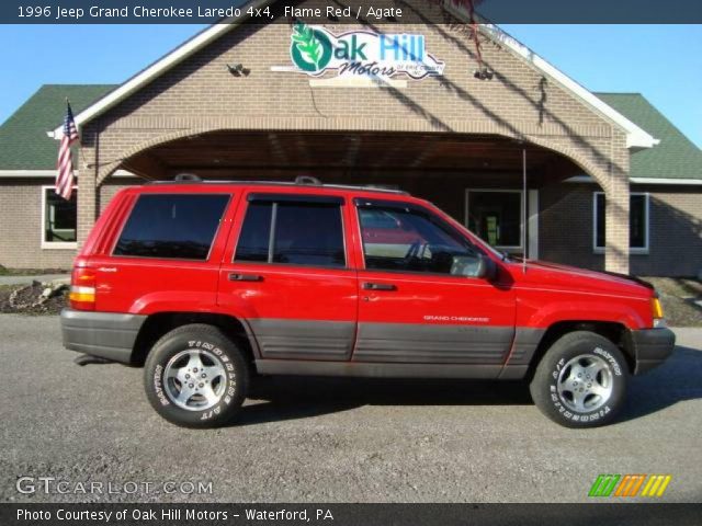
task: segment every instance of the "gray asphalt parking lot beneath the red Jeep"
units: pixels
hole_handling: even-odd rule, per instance
[[[141,369],[79,367],[56,317],[2,315],[0,500],[577,502],[600,473],[668,473],[663,501],[700,502],[702,331],[677,332],[608,427],[559,427],[519,384],[269,378],[238,424],[190,431],[151,410]],[[25,495],[20,477],[103,493]]]

